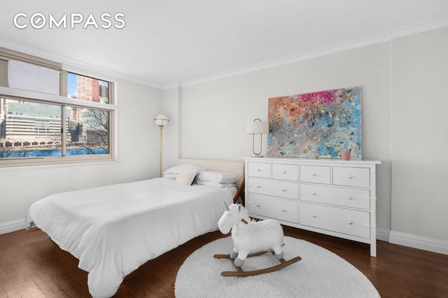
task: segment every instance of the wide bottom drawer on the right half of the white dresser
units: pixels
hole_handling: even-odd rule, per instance
[[[300,225],[370,239],[370,213],[300,202]]]

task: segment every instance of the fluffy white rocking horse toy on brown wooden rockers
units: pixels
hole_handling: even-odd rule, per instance
[[[228,234],[232,230],[233,250],[228,255],[214,255],[216,259],[232,261],[237,271],[223,271],[222,276],[252,276],[277,271],[302,260],[294,257],[286,261],[283,259],[283,228],[278,221],[268,219],[254,221],[241,204],[227,206],[224,202],[225,212],[218,221],[221,233]],[[241,267],[246,257],[255,257],[265,253],[274,253],[280,264],[265,269],[243,271]]]

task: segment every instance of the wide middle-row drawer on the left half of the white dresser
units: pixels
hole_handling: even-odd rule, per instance
[[[299,197],[297,183],[258,178],[248,179],[248,192],[288,199],[298,199]]]

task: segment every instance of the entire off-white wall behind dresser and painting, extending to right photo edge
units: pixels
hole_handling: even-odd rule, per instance
[[[377,232],[448,254],[447,53],[444,27],[182,87],[179,155],[241,160],[246,122],[267,120],[269,97],[361,85],[363,158],[381,159]]]

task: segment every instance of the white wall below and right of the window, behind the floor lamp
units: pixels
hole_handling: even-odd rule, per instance
[[[55,192],[158,176],[158,132],[162,91],[120,80],[118,161],[0,169],[0,234],[25,224],[29,206]]]

